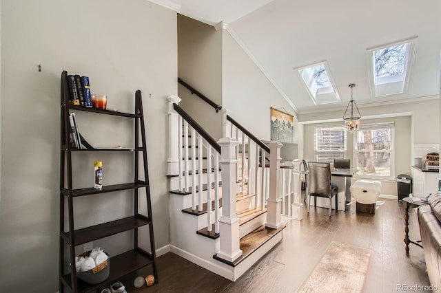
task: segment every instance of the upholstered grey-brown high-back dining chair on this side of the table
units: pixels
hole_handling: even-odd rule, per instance
[[[308,162],[308,173],[308,213],[311,208],[311,197],[314,197],[314,206],[317,206],[317,197],[327,197],[329,198],[329,217],[331,217],[332,197],[336,198],[336,210],[338,210],[338,188],[331,184],[331,164]]]

